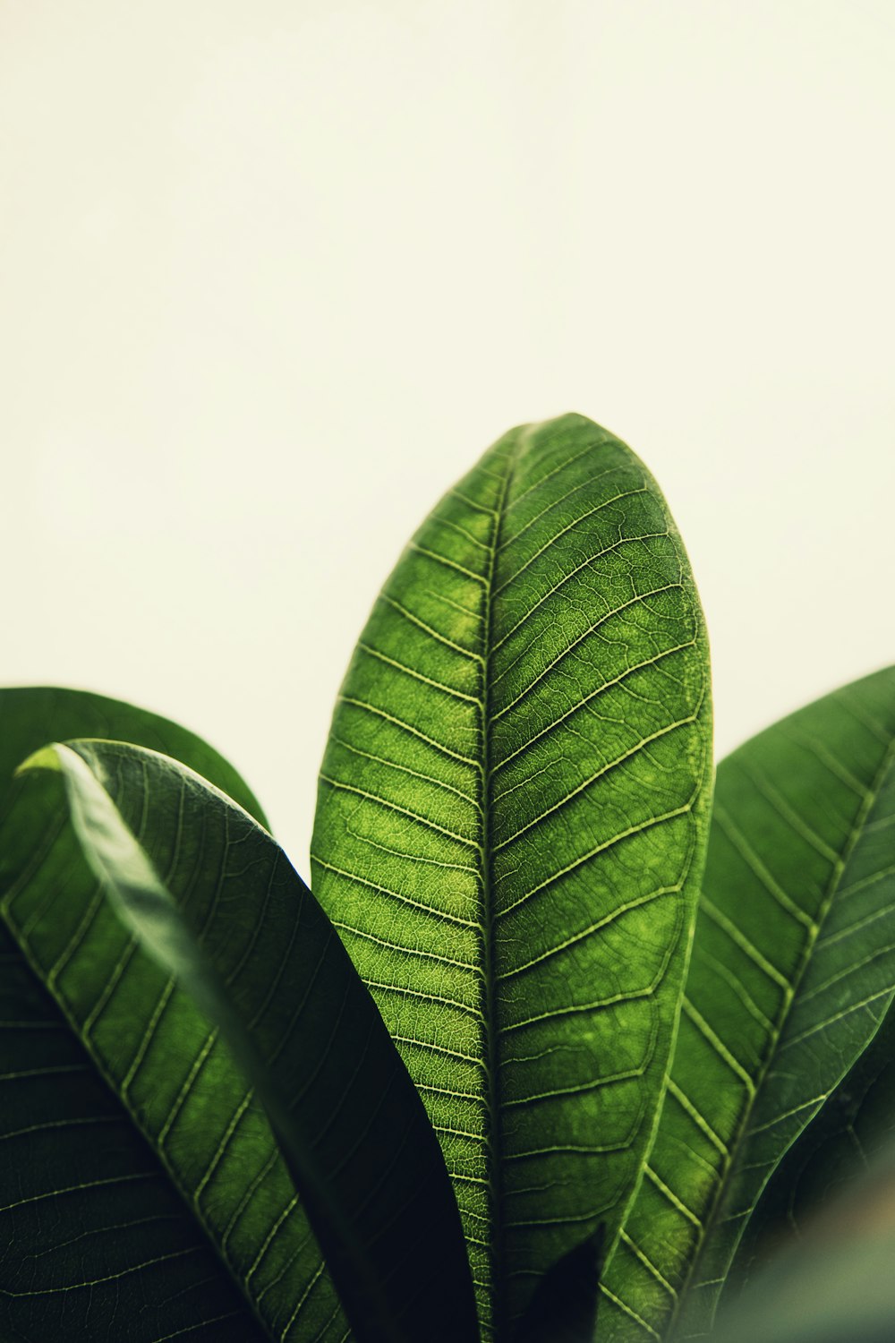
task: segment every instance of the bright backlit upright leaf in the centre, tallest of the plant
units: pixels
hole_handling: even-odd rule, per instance
[[[666,504],[577,415],[513,430],[444,497],[349,667],[314,889],[443,1140],[488,1338],[601,1222],[612,1245],[641,1176],[708,731]]]

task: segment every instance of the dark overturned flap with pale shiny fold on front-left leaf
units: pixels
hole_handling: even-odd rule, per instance
[[[436,1185],[439,1178],[444,1182],[447,1209],[454,1205],[440,1151],[366,990],[301,878],[291,874],[288,897],[301,901],[301,905],[293,921],[280,916],[278,935],[294,937],[301,925],[303,941],[313,945],[302,945],[301,955],[288,962],[264,964],[255,986],[259,1002],[247,999],[238,1005],[231,1001],[216,964],[221,950],[216,947],[213,925],[209,924],[205,931],[209,948],[205,952],[199,940],[199,920],[196,927],[191,927],[185,912],[181,915],[178,902],[160,881],[145,849],[123,823],[101,779],[107,778],[113,768],[115,775],[126,772],[136,791],[142,776],[148,780],[148,795],[152,787],[149,780],[158,788],[170,779],[170,787],[189,786],[197,794],[201,790],[207,811],[213,800],[227,806],[223,796],[215,799],[199,776],[191,778],[173,761],[137,748],[74,743],[54,749],[66,779],[75,833],[118,916],[220,1030],[263,1101],[358,1343],[368,1339],[381,1343],[411,1340],[419,1336],[421,1327],[428,1330],[429,1336],[451,1339],[452,1343],[471,1338],[474,1316],[470,1309],[464,1311],[464,1264],[460,1254],[451,1253],[452,1244],[462,1252],[459,1219],[454,1210],[451,1222],[443,1230],[437,1217],[427,1215],[440,1191]],[[119,782],[117,778],[115,784],[119,795],[126,792],[125,779]],[[242,818],[235,807],[229,810],[233,815],[228,818],[228,830],[232,831]],[[243,826],[231,843],[246,850],[244,861],[259,868],[270,865],[271,876],[260,884],[266,884],[266,898],[270,898],[275,889],[274,874],[278,865],[283,865],[270,837],[250,825]],[[248,889],[243,888],[239,893],[242,898],[250,898]],[[188,900],[184,905],[188,907]],[[274,917],[272,908],[272,902],[264,905],[268,921]],[[219,941],[225,937],[229,943],[238,925],[233,929],[227,921]],[[270,974],[288,976],[299,984],[310,980],[313,990],[301,999],[301,1009],[290,1022],[288,1038],[266,1044],[262,1034],[264,1017],[259,1017],[259,1011],[274,1006],[267,988]],[[315,994],[318,988],[319,994]],[[325,1053],[318,1048],[309,1049],[302,1035],[326,1019],[321,1009],[334,1011],[338,1023]],[[254,1023],[254,1029],[247,1022]],[[365,1042],[358,1060],[353,1046],[362,1037]],[[295,1099],[271,1072],[267,1062],[271,1057],[293,1081]],[[309,1070],[314,1081],[310,1091],[305,1077]],[[349,1074],[350,1082],[342,1081],[342,1070]],[[338,1096],[338,1107],[322,1107],[318,1100],[321,1093]],[[357,1111],[358,1117],[349,1117],[349,1111]],[[399,1125],[403,1140],[400,1146],[389,1147],[389,1133]],[[370,1148],[382,1156],[388,1180],[384,1180],[378,1162],[366,1156]],[[338,1171],[335,1179],[329,1176],[329,1167]],[[444,1215],[447,1219],[447,1213]],[[390,1234],[382,1236],[382,1223],[389,1222],[394,1223]],[[381,1281],[393,1276],[396,1269],[403,1272],[405,1281],[397,1293],[389,1293],[382,1289]],[[407,1284],[412,1284],[419,1293],[445,1299],[439,1320],[424,1324],[416,1317],[416,1311],[407,1317],[405,1304],[411,1297]]]

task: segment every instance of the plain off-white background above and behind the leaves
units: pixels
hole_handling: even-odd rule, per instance
[[[510,424],[662,482],[735,743],[895,661],[891,0],[0,0],[8,684],[301,870],[361,623]]]

